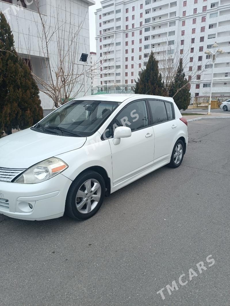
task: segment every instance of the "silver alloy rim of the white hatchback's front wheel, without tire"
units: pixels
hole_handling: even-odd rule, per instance
[[[78,189],[76,207],[81,214],[88,214],[97,205],[101,198],[102,188],[95,179],[85,181]]]

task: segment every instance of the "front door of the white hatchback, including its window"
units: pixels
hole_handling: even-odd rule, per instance
[[[112,153],[113,185],[138,174],[153,164],[154,133],[150,124],[145,100],[125,106],[113,119],[113,131],[118,126],[128,126],[131,137],[121,138],[118,145],[109,139]]]

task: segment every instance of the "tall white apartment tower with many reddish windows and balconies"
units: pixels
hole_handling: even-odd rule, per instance
[[[104,0],[101,4],[95,12],[97,54],[103,65],[100,85],[135,87],[151,50],[159,60],[177,52],[187,56],[191,95],[209,95],[212,62],[204,52],[217,41],[225,53],[215,62],[212,92],[229,95],[230,0]]]

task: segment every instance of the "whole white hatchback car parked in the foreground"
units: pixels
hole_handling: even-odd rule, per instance
[[[92,217],[105,196],[166,164],[180,166],[187,121],[172,98],[96,95],[0,139],[0,213]]]

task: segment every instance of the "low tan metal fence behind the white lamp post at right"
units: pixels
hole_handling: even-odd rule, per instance
[[[219,108],[220,104],[226,100],[230,99],[229,96],[212,96],[211,99],[211,108]],[[191,97],[190,105],[193,106],[193,108],[208,108],[209,104],[209,97],[208,96],[197,96],[197,97]]]

